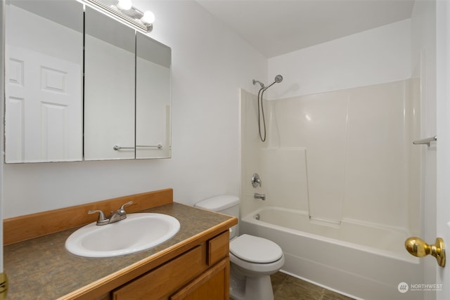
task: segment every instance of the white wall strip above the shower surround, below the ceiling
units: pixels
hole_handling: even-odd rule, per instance
[[[269,58],[269,99],[383,84],[411,77],[410,20]]]

